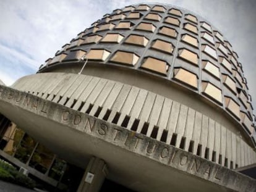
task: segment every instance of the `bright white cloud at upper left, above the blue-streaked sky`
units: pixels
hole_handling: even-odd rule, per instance
[[[40,64],[102,16],[95,14],[93,2],[82,1],[1,1],[0,7],[1,44]]]

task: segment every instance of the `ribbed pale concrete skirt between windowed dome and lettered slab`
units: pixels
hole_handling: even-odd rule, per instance
[[[228,168],[231,169],[256,162],[256,153],[249,146],[250,140],[242,137],[242,131],[239,131],[239,127],[226,123],[223,125],[225,118],[222,117],[220,122],[218,118],[215,118],[217,114],[214,117],[209,117],[204,110],[203,112],[195,111],[186,104],[163,97],[162,93],[156,94],[137,86],[88,75],[40,73],[29,77],[29,81],[27,81],[27,77],[18,80],[13,88],[32,93],[66,107],[72,107],[72,109],[80,112],[86,112],[92,106],[90,115],[95,115],[98,109],[102,108],[98,114],[99,119],[103,119],[106,112],[110,110],[108,119],[105,119],[108,122],[113,122],[116,114],[120,113],[116,123],[119,126],[129,116],[130,120],[126,126],[129,130],[134,120],[139,119],[137,133],[142,131],[145,122],[147,122],[147,136],[151,136],[153,128],[158,127],[156,140],[160,141],[163,132],[166,131],[168,132],[166,143],[170,144],[173,135],[176,135],[175,146],[179,148],[182,138],[185,138],[184,149],[186,151],[189,151],[191,142],[194,143],[193,152],[197,154],[198,144],[200,144],[201,157],[207,156],[208,160],[219,163],[218,160],[221,156],[222,165],[224,165],[224,158],[227,158]],[[51,85],[51,89],[45,90],[44,87],[40,89],[40,85],[44,85],[41,81],[46,79]],[[38,85],[35,89],[33,89],[34,84]],[[179,95],[184,98],[183,94]],[[186,100],[186,98],[184,99]],[[203,106],[203,104],[199,106]],[[220,125],[225,134],[220,134]],[[222,136],[220,137],[220,135]],[[215,139],[216,137],[218,139]],[[235,142],[236,138],[238,142]],[[246,141],[245,150],[239,150],[241,147],[239,140]],[[249,154],[250,158],[245,153]],[[239,161],[241,158],[244,161]]]

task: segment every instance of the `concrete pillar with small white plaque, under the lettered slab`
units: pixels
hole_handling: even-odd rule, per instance
[[[77,192],[100,191],[107,173],[108,170],[105,162],[98,157],[92,157],[85,170],[85,174],[83,175]]]

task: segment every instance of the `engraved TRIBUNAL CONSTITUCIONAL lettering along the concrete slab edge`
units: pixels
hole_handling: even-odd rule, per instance
[[[32,104],[31,106],[35,107],[36,109],[38,108],[38,106],[39,107],[41,106],[41,99],[35,98],[35,100],[34,100],[33,99],[34,97],[31,97],[30,94],[26,95],[24,93],[19,93],[19,92],[12,91],[12,90],[8,91],[3,88],[0,88],[0,94],[1,93],[2,93],[2,95],[4,95],[6,93],[4,95],[5,99],[9,99],[9,100],[14,99],[15,102],[20,102],[25,105],[27,104],[27,106]],[[32,101],[30,101],[30,99],[32,99]],[[38,104],[39,101],[40,101],[40,104]],[[48,104],[49,104],[48,101],[43,101],[42,107],[41,107],[41,112],[46,114],[46,112],[48,111],[48,108],[49,108]],[[51,106],[54,106],[54,104],[51,104]],[[56,110],[59,110],[59,108],[56,107]],[[59,113],[59,111],[58,111],[58,113]],[[60,112],[60,114],[61,114],[61,112]],[[51,118],[51,117],[49,117],[49,118]],[[181,166],[186,166],[189,162],[191,162],[188,170],[193,170],[193,172],[199,173],[201,177],[205,176],[205,178],[209,178],[211,176],[211,178],[213,178],[213,180],[218,180],[218,181],[223,180],[223,171],[221,168],[213,169],[211,164],[205,164],[205,163],[203,163],[204,161],[200,161],[199,159],[197,159],[195,157],[190,157],[189,155],[187,155],[183,152],[180,153],[179,150],[176,150],[175,148],[172,148],[171,146],[168,147],[163,144],[163,146],[161,146],[161,148],[158,148],[158,146],[160,146],[161,144],[159,144],[158,142],[155,142],[153,140],[148,140],[148,139],[144,140],[143,136],[141,137],[140,135],[136,135],[135,132],[130,132],[130,131],[126,132],[126,130],[123,130],[122,128],[108,127],[108,124],[105,124],[105,123],[99,123],[99,124],[98,124],[98,122],[95,123],[96,120],[93,118],[88,118],[87,116],[84,117],[83,115],[80,115],[78,113],[73,115],[72,112],[70,112],[68,110],[62,111],[62,120],[63,121],[70,120],[70,122],[72,122],[74,125],[80,125],[80,123],[83,122],[83,120],[84,120],[82,118],[86,118],[85,125],[82,125],[82,126],[85,126],[84,128],[88,128],[88,131],[91,131],[91,132],[94,131],[93,133],[98,132],[96,134],[105,136],[105,135],[108,135],[109,129],[111,129],[111,130],[114,129],[115,133],[113,134],[113,141],[121,140],[121,138],[123,138],[124,140],[122,140],[122,142],[124,142],[124,144],[129,145],[129,147],[132,145],[132,147],[130,147],[129,149],[131,149],[133,147],[134,147],[134,149],[137,149],[137,148],[142,149],[141,146],[143,146],[143,147],[145,146],[145,148],[146,148],[145,152],[147,152],[147,154],[151,154],[152,158],[156,159],[156,157],[160,157],[160,158],[168,161],[168,165],[172,164],[174,161],[176,162],[176,160],[179,161],[179,165],[181,165]],[[101,122],[101,120],[99,120],[99,122]],[[95,124],[100,125],[100,126],[96,127]],[[158,151],[158,149],[160,149],[161,151]],[[153,156],[152,154],[154,154],[155,152],[157,152],[157,154],[155,154]],[[191,159],[191,161],[190,161],[190,159]],[[157,159],[157,160],[159,160],[159,159]],[[166,164],[166,161],[164,161],[164,164]],[[217,165],[214,165],[214,167],[217,167]]]

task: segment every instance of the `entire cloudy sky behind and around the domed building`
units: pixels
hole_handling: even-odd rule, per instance
[[[35,73],[61,46],[95,20],[133,0],[1,0],[0,79],[7,85]],[[155,2],[155,1],[143,1]],[[239,55],[256,107],[256,1],[176,0],[160,1],[201,15],[233,45]]]

